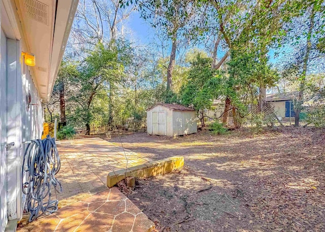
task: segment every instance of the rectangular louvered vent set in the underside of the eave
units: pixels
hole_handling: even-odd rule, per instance
[[[24,0],[25,12],[31,19],[48,25],[48,6],[36,0]]]

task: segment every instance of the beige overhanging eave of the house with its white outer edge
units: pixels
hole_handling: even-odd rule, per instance
[[[2,0],[10,23],[10,39],[21,41],[24,52],[35,54],[36,66],[29,67],[39,96],[46,103],[51,97],[59,65],[66,49],[79,0],[37,0],[47,8],[46,22],[30,17],[23,0]],[[32,1],[31,1],[32,2]]]

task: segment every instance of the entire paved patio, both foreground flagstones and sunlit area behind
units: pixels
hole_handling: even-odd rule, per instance
[[[62,141],[57,146],[63,192],[60,209],[18,231],[151,231],[144,215],[117,188],[106,186],[108,172],[148,162],[136,153],[100,138]],[[54,193],[54,190],[53,190]]]

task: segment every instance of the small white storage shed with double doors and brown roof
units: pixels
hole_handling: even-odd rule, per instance
[[[197,133],[197,120],[193,108],[158,103],[147,109],[147,132],[167,136]]]

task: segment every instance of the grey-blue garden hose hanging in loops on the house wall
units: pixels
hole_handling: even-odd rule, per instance
[[[61,183],[55,178],[60,170],[60,157],[55,140],[49,135],[41,140],[28,143],[22,164],[22,192],[26,194],[26,205],[31,213],[29,222],[40,213],[49,214],[57,211],[58,200],[51,199],[51,187],[62,192]]]

